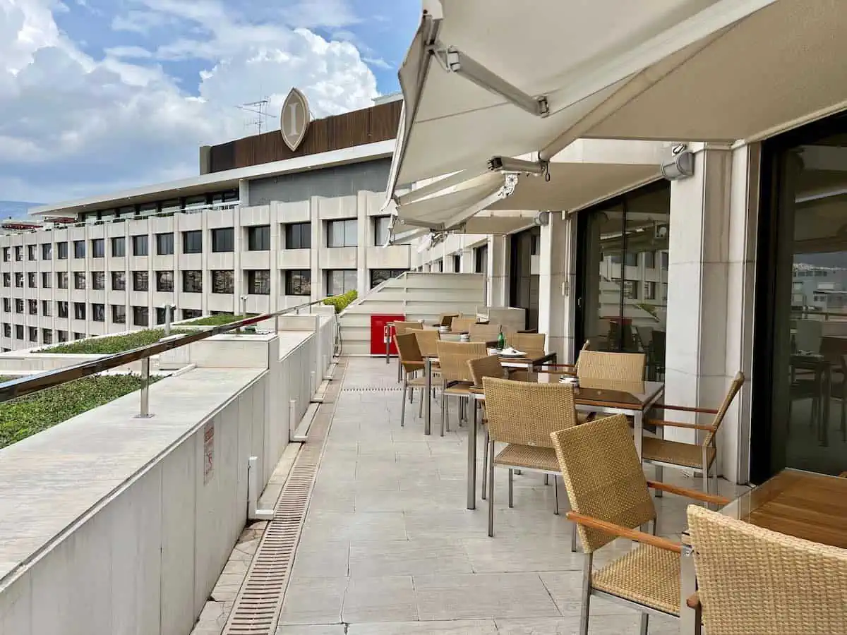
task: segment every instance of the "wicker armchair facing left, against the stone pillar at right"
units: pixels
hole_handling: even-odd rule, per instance
[[[715,439],[717,429],[721,427],[723,417],[726,416],[729,406],[738,395],[741,386],[744,385],[744,373],[736,373],[733,383],[730,384],[726,397],[723,398],[721,407],[717,410],[709,410],[706,408],[688,408],[684,406],[660,406],[665,410],[676,410],[686,412],[696,412],[700,414],[713,414],[715,418],[711,425],[700,425],[697,423],[680,423],[673,421],[662,421],[657,419],[647,419],[646,424],[656,426],[656,428],[685,428],[689,430],[704,430],[707,432],[706,439],[702,444],[681,443],[679,441],[666,441],[665,439],[654,439],[645,437],[642,440],[641,457],[647,462],[655,465],[656,478],[662,479],[662,467],[675,467],[683,470],[694,470],[703,477],[703,491],[717,494],[717,465],[715,465],[715,457],[717,456],[717,446]],[[714,466],[714,469],[711,467]],[[709,472],[712,472],[712,487],[709,487]],[[714,490],[712,492],[712,490]]]

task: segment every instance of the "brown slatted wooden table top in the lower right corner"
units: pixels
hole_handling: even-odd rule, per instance
[[[847,478],[786,469],[726,505],[756,527],[847,549]]]

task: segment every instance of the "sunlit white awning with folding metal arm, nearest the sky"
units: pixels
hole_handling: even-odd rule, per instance
[[[549,160],[773,1],[424,0],[390,196],[495,157]]]

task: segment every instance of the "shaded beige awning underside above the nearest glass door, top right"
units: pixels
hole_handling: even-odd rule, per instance
[[[847,108],[847,3],[778,0],[584,136],[759,141]]]

